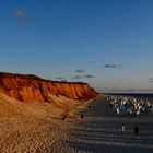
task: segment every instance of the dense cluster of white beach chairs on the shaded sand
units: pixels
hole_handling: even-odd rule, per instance
[[[117,115],[136,117],[153,114],[153,104],[143,99],[125,96],[108,96],[106,99],[109,102],[113,113]]]

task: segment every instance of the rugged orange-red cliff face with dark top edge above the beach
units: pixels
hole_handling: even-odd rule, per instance
[[[54,82],[32,74],[0,73],[0,93],[22,102],[51,102],[49,95],[64,95],[73,99],[97,96],[86,83]]]

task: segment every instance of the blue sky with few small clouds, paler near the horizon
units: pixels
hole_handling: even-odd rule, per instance
[[[152,58],[152,0],[0,0],[0,71],[153,92]]]

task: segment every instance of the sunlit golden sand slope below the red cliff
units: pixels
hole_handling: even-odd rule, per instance
[[[49,152],[51,145],[63,138],[61,115],[66,107],[79,103],[63,96],[55,99],[59,107],[56,102],[26,104],[1,94],[0,152]]]

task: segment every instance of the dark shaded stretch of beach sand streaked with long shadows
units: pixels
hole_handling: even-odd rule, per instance
[[[151,153],[153,152],[153,115],[140,117],[121,117],[113,115],[109,104],[96,99],[90,104],[91,109],[82,110],[84,121],[73,123],[68,129],[63,141],[68,152],[89,153]],[[121,136],[121,123],[126,133]],[[134,137],[133,127],[138,123],[139,139]],[[61,152],[63,148],[61,148]]]

